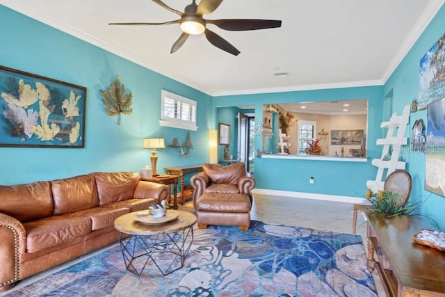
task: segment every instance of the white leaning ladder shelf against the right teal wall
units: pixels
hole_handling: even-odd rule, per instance
[[[377,176],[375,180],[369,180],[366,182],[366,186],[372,191],[377,192],[378,190],[383,190],[383,184],[385,184],[386,177],[394,170],[405,169],[405,162],[398,161],[398,157],[401,153],[402,145],[407,144],[407,137],[405,137],[405,130],[410,120],[410,106],[407,105],[403,108],[401,115],[393,113],[389,122],[382,122],[380,124],[381,128],[387,128],[387,137],[384,139],[378,139],[376,143],[378,145],[383,145],[382,158],[373,159],[371,162],[373,166],[377,166]],[[396,135],[394,136],[394,132]],[[391,149],[391,159],[383,161],[384,157],[389,154]],[[385,178],[383,174],[387,169]]]

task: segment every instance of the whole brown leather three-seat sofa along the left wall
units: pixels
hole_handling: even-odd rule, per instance
[[[136,172],[0,186],[0,291],[117,241],[114,220],[168,196]]]

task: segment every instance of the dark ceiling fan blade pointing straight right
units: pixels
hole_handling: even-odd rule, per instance
[[[206,23],[228,31],[270,29],[281,26],[281,21],[274,19],[206,19]]]

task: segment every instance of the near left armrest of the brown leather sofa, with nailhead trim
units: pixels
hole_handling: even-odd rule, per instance
[[[26,231],[16,218],[0,213],[0,291],[19,280],[19,255],[26,250]]]

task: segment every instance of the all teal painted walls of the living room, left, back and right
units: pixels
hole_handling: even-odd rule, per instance
[[[85,148],[0,147],[0,184],[57,179],[99,170],[138,171],[149,163],[149,151],[142,149],[143,138],[164,137],[168,145],[173,138],[185,140],[188,132],[159,127],[161,89],[165,88],[197,101],[200,128],[191,131],[194,145],[191,156],[181,157],[172,147],[159,150],[159,171],[166,166],[208,161],[208,131],[218,129],[218,122],[235,121],[238,109],[234,106],[254,105],[260,124],[263,104],[368,99],[368,162],[255,159],[257,188],[362,197],[366,180],[374,179],[377,172],[370,160],[380,158],[382,147],[375,145],[376,139],[383,135],[380,122],[387,120],[391,112],[400,113],[403,106],[416,97],[419,60],[445,33],[445,8],[439,11],[385,86],[213,98],[4,6],[0,6],[0,28],[0,65],[86,86],[88,93]],[[123,115],[120,126],[116,125],[117,118],[104,113],[99,93],[108,88],[115,75],[119,75],[133,93],[133,113]],[[391,102],[385,99],[389,93],[393,94]],[[410,126],[419,118],[426,120],[426,111],[412,113]],[[235,141],[232,129],[231,143]],[[255,146],[261,147],[261,136],[255,138]],[[231,148],[236,156],[236,146]],[[219,153],[222,159],[222,147]],[[424,190],[425,156],[404,152],[402,157],[413,177],[412,199],[426,200],[423,211],[444,228],[445,198]],[[309,177],[315,178],[314,184],[309,184]]]

